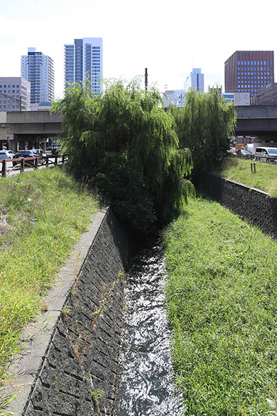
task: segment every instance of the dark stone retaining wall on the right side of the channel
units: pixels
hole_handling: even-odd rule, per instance
[[[263,232],[277,238],[277,200],[268,193],[216,175],[202,177],[200,190]]]

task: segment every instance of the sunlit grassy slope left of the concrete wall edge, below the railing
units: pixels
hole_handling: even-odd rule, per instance
[[[60,167],[0,180],[0,385],[19,332],[97,209]]]

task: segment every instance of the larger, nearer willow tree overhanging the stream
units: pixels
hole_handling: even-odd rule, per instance
[[[71,85],[53,111],[62,114],[62,146],[75,174],[97,184],[116,214],[148,231],[179,214],[193,185],[190,150],[179,149],[175,120],[157,89],[110,82],[99,96]]]

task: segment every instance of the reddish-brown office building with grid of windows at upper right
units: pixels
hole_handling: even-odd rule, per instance
[[[274,83],[274,51],[235,51],[225,62],[225,92],[249,92]]]

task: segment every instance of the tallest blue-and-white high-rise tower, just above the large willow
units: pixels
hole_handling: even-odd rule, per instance
[[[83,84],[86,78],[95,94],[102,91],[102,37],[75,39],[64,45],[64,88]]]

